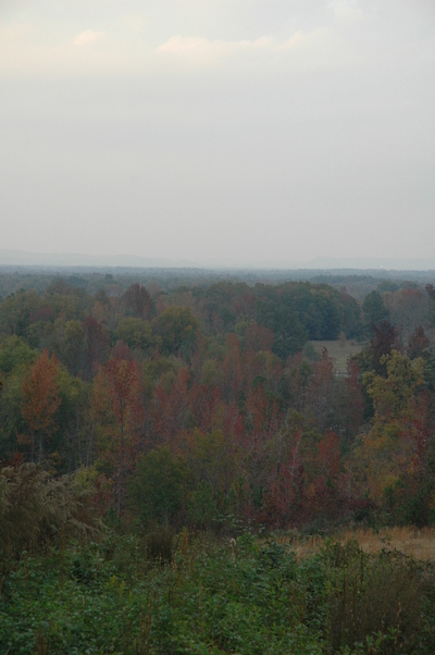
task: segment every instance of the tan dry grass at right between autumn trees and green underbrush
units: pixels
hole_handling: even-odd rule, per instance
[[[382,548],[397,549],[422,561],[435,559],[435,529],[385,528],[378,532],[370,529],[347,530],[334,535],[341,544],[357,540],[365,553],[376,553]],[[319,535],[288,536],[276,539],[279,544],[289,545],[298,557],[307,557],[320,551],[324,537]]]

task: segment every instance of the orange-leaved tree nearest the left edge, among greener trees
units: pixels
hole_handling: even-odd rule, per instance
[[[38,448],[42,461],[45,446],[55,429],[55,415],[61,404],[58,384],[59,361],[44,350],[22,384],[22,415],[30,433],[32,459]]]

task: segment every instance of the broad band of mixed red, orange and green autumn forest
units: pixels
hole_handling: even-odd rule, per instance
[[[433,523],[434,308],[431,285],[10,294],[0,457],[76,471],[113,520]],[[344,375],[311,344],[338,338],[363,344]]]

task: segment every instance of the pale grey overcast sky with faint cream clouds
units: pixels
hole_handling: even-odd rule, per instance
[[[0,0],[0,248],[435,257],[433,0]]]

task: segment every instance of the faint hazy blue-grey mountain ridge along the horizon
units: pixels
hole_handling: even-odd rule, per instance
[[[316,257],[310,261],[269,260],[241,263],[233,259],[186,261],[136,255],[83,255],[78,252],[29,252],[0,250],[0,267],[87,267],[87,268],[188,268],[188,269],[263,269],[263,270],[366,270],[366,271],[435,271],[435,258]]]

